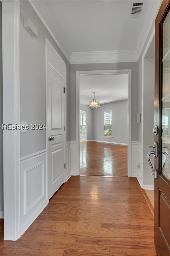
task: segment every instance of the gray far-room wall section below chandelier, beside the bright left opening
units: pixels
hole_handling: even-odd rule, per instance
[[[80,105],[80,110],[86,112],[87,140],[93,140],[93,109],[87,105]]]

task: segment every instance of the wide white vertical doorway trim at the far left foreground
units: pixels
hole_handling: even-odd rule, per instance
[[[3,1],[2,20],[3,123],[20,124],[19,1]],[[3,130],[3,142],[4,239],[17,240],[20,237],[20,130]]]

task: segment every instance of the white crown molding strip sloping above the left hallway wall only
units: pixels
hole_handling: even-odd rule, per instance
[[[56,44],[58,45],[58,47],[60,48],[60,50],[62,51],[62,53],[64,54],[64,56],[66,57],[66,59],[68,60],[68,62],[70,63],[71,52],[69,51],[67,45],[65,44],[59,31],[57,30],[56,24],[53,21],[50,13],[48,12],[44,1],[29,0],[29,2],[41,19],[46,29],[48,30],[48,32],[50,33],[50,35],[52,36],[52,38],[54,39],[54,41],[56,42]]]

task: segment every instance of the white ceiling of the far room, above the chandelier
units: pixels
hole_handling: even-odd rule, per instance
[[[128,75],[80,75],[80,104],[95,98],[100,104],[128,99]]]

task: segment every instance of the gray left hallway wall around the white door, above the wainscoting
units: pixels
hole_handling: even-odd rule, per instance
[[[23,26],[29,17],[38,28],[32,38]],[[20,120],[42,123],[45,120],[45,37],[66,63],[67,111],[66,140],[70,141],[70,64],[28,1],[20,1]],[[21,133],[21,157],[45,149],[45,130]]]

